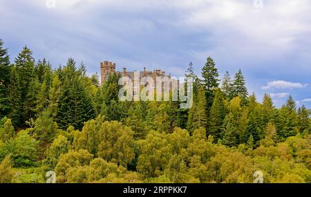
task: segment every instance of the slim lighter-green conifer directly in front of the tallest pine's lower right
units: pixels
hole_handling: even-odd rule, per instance
[[[221,126],[223,126],[223,120],[225,119],[225,103],[223,93],[220,88],[216,89],[213,105],[209,113],[208,120],[208,133],[214,137],[215,142],[221,138]]]

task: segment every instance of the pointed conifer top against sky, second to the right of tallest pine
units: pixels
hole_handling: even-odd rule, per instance
[[[239,70],[238,73],[234,76],[234,81],[232,83],[232,93],[231,97],[240,97],[241,104],[247,104],[247,88],[245,86],[245,79],[243,77],[242,71]]]

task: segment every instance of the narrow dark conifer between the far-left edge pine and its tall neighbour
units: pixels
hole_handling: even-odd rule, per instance
[[[22,112],[22,102],[21,102],[21,88],[19,83],[19,76],[15,66],[12,66],[11,78],[9,89],[9,105],[10,113],[8,117],[12,120],[14,126],[21,126],[21,112]]]

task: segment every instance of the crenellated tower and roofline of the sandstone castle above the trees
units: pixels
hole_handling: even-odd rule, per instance
[[[156,82],[156,77],[171,78],[171,74],[166,75],[165,71],[146,71],[146,67],[144,67],[144,71],[126,71],[126,68],[123,68],[122,71],[115,71],[115,63],[109,61],[100,62],[100,71],[101,84],[104,84],[104,82],[106,82],[111,73],[117,73],[117,75],[121,75],[122,77],[129,77],[130,79],[134,79],[134,73],[138,72],[139,79],[142,79],[142,77],[152,77],[154,82]]]

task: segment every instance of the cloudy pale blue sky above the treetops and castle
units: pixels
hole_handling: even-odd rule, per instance
[[[53,66],[68,57],[88,74],[162,69],[200,75],[211,56],[223,77],[241,68],[249,94],[311,108],[310,0],[1,0],[0,39],[11,62],[27,45]]]

